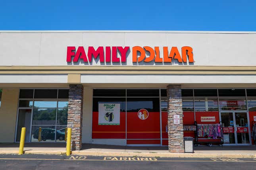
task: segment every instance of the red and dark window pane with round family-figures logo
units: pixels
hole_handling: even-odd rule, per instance
[[[157,93],[152,90],[139,95],[156,96]],[[127,144],[161,144],[159,100],[159,90],[158,97],[127,97]]]

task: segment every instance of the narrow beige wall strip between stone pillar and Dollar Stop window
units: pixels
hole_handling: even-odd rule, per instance
[[[92,143],[92,88],[84,87],[82,142]]]

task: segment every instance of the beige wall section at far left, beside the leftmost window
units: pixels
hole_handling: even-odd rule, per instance
[[[19,89],[4,88],[0,107],[0,142],[14,142]]]

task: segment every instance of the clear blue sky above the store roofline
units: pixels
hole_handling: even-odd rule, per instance
[[[256,0],[1,0],[0,30],[256,31]]]

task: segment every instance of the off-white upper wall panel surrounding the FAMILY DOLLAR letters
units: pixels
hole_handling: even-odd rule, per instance
[[[132,47],[193,48],[194,66],[255,66],[255,32],[208,31],[0,31],[1,66],[68,66],[67,46],[129,46],[125,65],[133,66]],[[15,49],[15,50],[13,50]],[[105,49],[104,49],[105,50]],[[10,57],[6,57],[10,56]],[[54,56],[54,57],[53,57]],[[147,54],[148,56],[148,54]],[[241,57],[244,56],[244,57]],[[120,58],[120,54],[117,53]],[[78,62],[81,66],[88,63]],[[72,64],[72,65],[75,65]],[[92,60],[90,65],[101,65]],[[143,65],[158,65],[140,62]],[[162,65],[179,65],[177,62]],[[106,64],[107,65],[107,64]],[[114,65],[114,64],[113,64]],[[121,65],[121,64],[120,64]]]

